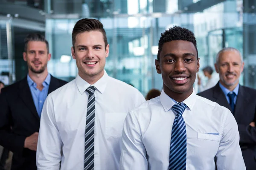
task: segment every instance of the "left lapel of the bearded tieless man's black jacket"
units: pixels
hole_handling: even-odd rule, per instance
[[[32,114],[40,121],[26,77],[20,82],[19,95],[29,110],[32,112]]]

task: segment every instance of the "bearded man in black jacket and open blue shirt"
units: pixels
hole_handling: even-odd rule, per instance
[[[25,39],[23,59],[28,75],[3,88],[0,94],[0,145],[13,152],[12,170],[36,170],[40,116],[49,93],[67,82],[47,71],[51,58],[47,40],[40,34]]]

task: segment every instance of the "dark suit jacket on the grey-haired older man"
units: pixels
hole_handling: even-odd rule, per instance
[[[227,102],[224,92],[219,83],[198,94],[213,102],[217,102],[228,108],[231,107]],[[238,124],[240,134],[240,146],[244,157],[247,170],[256,170],[256,127],[249,126],[250,122],[256,122],[256,90],[239,85],[238,96],[236,99],[235,111],[233,113]]]

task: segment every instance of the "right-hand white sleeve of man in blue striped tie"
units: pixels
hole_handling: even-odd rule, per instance
[[[218,152],[216,166],[218,170],[245,170],[244,159],[239,146],[239,132],[236,120],[227,110],[224,130]]]

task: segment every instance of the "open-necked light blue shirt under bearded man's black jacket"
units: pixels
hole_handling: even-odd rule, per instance
[[[38,116],[41,117],[41,112],[43,109],[44,101],[47,97],[48,90],[49,90],[49,84],[51,82],[51,75],[48,73],[46,79],[43,82],[44,88],[42,91],[40,91],[38,88],[36,88],[36,83],[29,77],[29,74],[27,76],[27,81],[29,84],[29,89],[32,94],[32,98],[35,104],[36,111],[38,113]]]

